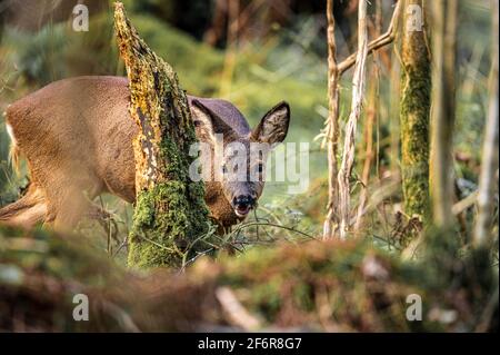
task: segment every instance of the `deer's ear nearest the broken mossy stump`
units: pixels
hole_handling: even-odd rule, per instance
[[[216,135],[226,137],[233,134],[232,128],[228,124],[199,100],[192,100],[191,115],[200,140],[216,141]]]

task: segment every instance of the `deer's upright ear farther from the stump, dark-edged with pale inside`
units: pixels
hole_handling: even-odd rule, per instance
[[[282,101],[266,114],[252,131],[252,138],[269,145],[280,144],[287,137],[289,124],[290,106]]]

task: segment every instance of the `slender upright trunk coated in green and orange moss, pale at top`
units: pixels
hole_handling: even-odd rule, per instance
[[[423,0],[406,0],[403,13],[400,129],[404,213],[424,218],[429,211],[431,70]]]

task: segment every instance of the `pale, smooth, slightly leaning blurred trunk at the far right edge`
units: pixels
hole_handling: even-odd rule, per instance
[[[484,130],[484,144],[482,148],[481,175],[479,180],[478,207],[476,219],[474,245],[488,247],[491,243],[491,223],[493,217],[493,195],[498,185],[498,62],[499,62],[499,8],[498,0],[492,1],[492,58],[490,75],[490,102],[488,121]]]

